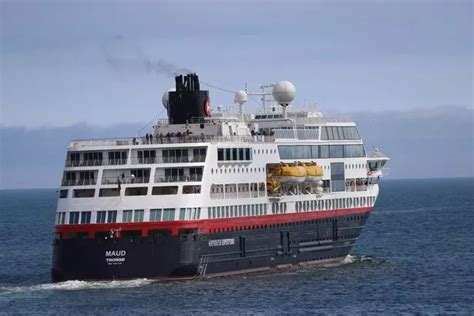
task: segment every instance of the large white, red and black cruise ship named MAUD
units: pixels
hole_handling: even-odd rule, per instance
[[[70,142],[52,279],[192,279],[342,261],[389,158],[368,155],[350,119],[290,110],[288,81],[236,92],[235,115],[212,114],[196,74],[175,83],[163,96],[168,119],[146,136]],[[245,113],[255,95],[274,106]]]

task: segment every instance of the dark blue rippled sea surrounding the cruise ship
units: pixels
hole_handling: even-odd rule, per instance
[[[345,263],[51,284],[54,190],[0,191],[0,313],[474,313],[474,179],[391,180]]]

